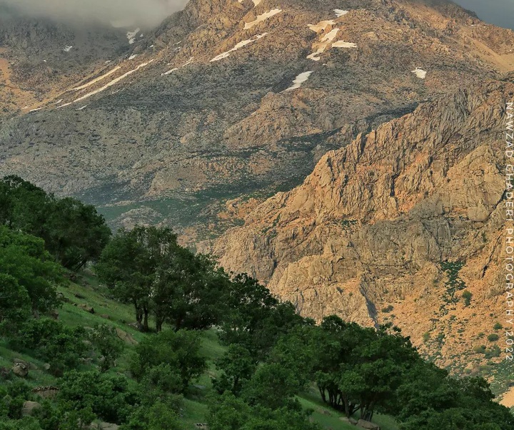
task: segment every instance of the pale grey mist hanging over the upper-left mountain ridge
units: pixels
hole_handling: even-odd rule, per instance
[[[0,7],[7,6],[24,16],[59,21],[117,21],[156,26],[166,16],[183,9],[186,3],[187,0],[0,0]]]

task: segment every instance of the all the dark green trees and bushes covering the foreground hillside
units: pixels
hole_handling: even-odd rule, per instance
[[[56,287],[93,268],[111,297],[133,307],[148,335],[129,373],[114,372],[124,343],[109,324],[68,327],[51,317]],[[425,361],[391,325],[301,317],[247,275],[225,272],[178,245],[165,227],[111,235],[96,209],[16,177],[0,182],[0,336],[51,363],[59,394],[21,416],[30,387],[0,377],[0,430],[83,430],[101,419],[122,430],[184,429],[188,388],[207,370],[203,332],[216,327],[223,357],[209,399],[211,430],[316,430],[298,394],[315,386],[327,407],[403,430],[512,430],[484,379],[452,377]],[[84,357],[98,357],[84,367]]]

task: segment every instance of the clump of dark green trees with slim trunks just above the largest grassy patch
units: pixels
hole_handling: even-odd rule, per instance
[[[179,246],[168,228],[135,227],[113,237],[96,272],[119,300],[133,304],[146,331],[152,312],[159,332],[165,322],[178,330],[218,321],[217,298],[226,279],[214,267],[208,257]]]

